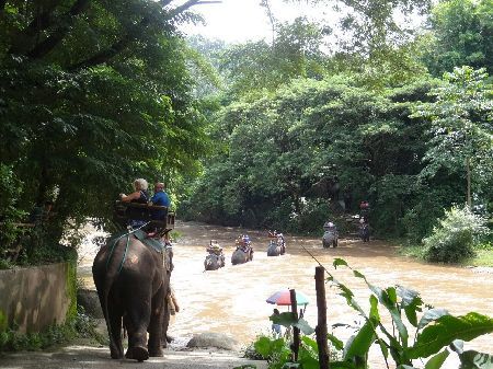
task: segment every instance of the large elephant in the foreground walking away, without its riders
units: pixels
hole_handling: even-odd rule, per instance
[[[171,249],[162,247],[156,240],[154,246],[142,241],[150,242],[140,230],[117,234],[101,247],[92,265],[112,359],[124,358],[122,325],[128,332],[126,358],[144,361],[149,356],[162,356],[173,255]]]

